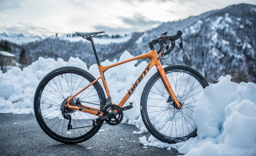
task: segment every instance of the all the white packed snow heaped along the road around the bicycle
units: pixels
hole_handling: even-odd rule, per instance
[[[111,65],[132,57],[125,51],[119,60],[113,62],[106,60],[102,65]],[[105,72],[114,104],[119,103],[147,65],[147,62],[141,62],[135,67],[136,63],[137,61],[132,61]],[[96,78],[100,76],[96,64],[88,69],[82,60],[73,57],[68,62],[60,58],[55,61],[40,57],[23,71],[18,67],[13,67],[7,73],[0,71],[0,113],[34,113],[33,100],[37,85],[49,72],[64,66],[79,67]],[[144,85],[155,72],[155,68],[149,71],[145,80],[140,82],[141,85],[136,87],[125,104],[133,102],[133,108],[124,112],[123,120],[139,128],[133,134],[148,132],[140,116],[139,103]],[[237,84],[230,79],[229,75],[220,77],[217,84],[210,84],[203,89],[203,94],[196,101],[192,116],[197,125],[197,137],[176,144],[167,144],[151,135],[149,138],[145,136],[139,138],[140,143],[144,147],[165,147],[167,150],[173,147],[179,153],[187,155],[255,155],[256,84],[251,82]],[[103,86],[101,81],[100,83]],[[64,90],[64,93],[65,91],[68,92]]]

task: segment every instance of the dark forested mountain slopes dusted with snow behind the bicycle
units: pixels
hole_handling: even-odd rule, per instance
[[[179,48],[177,41],[170,57],[162,60],[163,65],[180,64],[192,67],[209,82],[227,74],[235,82],[256,82],[255,28],[256,6],[238,4],[184,20],[166,22],[142,33],[133,33],[127,42],[116,39],[119,42],[102,44],[97,38],[94,40],[100,61],[113,61],[119,59],[125,50],[133,56],[146,53],[150,51],[147,43],[153,38],[165,31],[168,31],[168,35],[175,35],[177,30],[181,30],[185,50]],[[53,37],[23,46],[33,60],[43,56],[54,59],[60,57],[67,61],[73,56],[79,57],[88,66],[96,63],[90,42],[74,42]],[[158,48],[155,46],[155,49]]]

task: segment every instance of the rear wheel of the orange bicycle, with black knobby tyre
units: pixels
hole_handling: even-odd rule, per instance
[[[74,144],[88,140],[97,133],[101,125],[93,126],[92,120],[98,116],[64,106],[68,98],[94,80],[90,73],[76,67],[58,68],[41,80],[35,93],[34,111],[40,127],[47,135],[59,142]],[[106,105],[105,94],[98,81],[70,100],[70,105],[77,106],[78,98],[83,105],[100,110],[102,106],[90,103]],[[64,119],[62,108],[71,116],[71,125],[75,129],[67,130],[69,119]]]

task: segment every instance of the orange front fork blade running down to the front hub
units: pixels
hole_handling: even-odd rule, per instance
[[[169,83],[169,80],[168,80],[168,78],[167,78],[165,72],[164,72],[164,69],[163,69],[162,65],[161,65],[161,64],[156,65],[156,69],[157,69],[158,72],[160,73],[160,75],[161,75],[161,80],[162,80],[162,82],[163,82],[163,85],[164,85],[165,89],[167,90],[168,94],[170,94],[172,101],[174,101],[175,104],[177,105],[177,107],[180,108],[181,105],[180,105],[178,99],[176,98],[176,96],[175,96],[175,94],[174,94],[172,88],[171,88],[171,85],[170,85],[170,83]]]

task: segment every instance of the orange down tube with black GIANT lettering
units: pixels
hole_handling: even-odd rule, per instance
[[[154,66],[150,66],[151,61],[149,62],[149,64],[147,65],[147,67],[144,69],[144,71],[140,74],[140,76],[136,79],[136,81],[132,84],[132,86],[130,87],[130,89],[128,90],[128,92],[126,93],[126,95],[122,98],[122,100],[119,102],[118,106],[122,107],[125,102],[128,100],[128,98],[130,97],[130,95],[134,92],[134,90],[136,89],[136,87],[139,85],[140,81],[146,76],[146,74],[148,73],[148,71]]]

